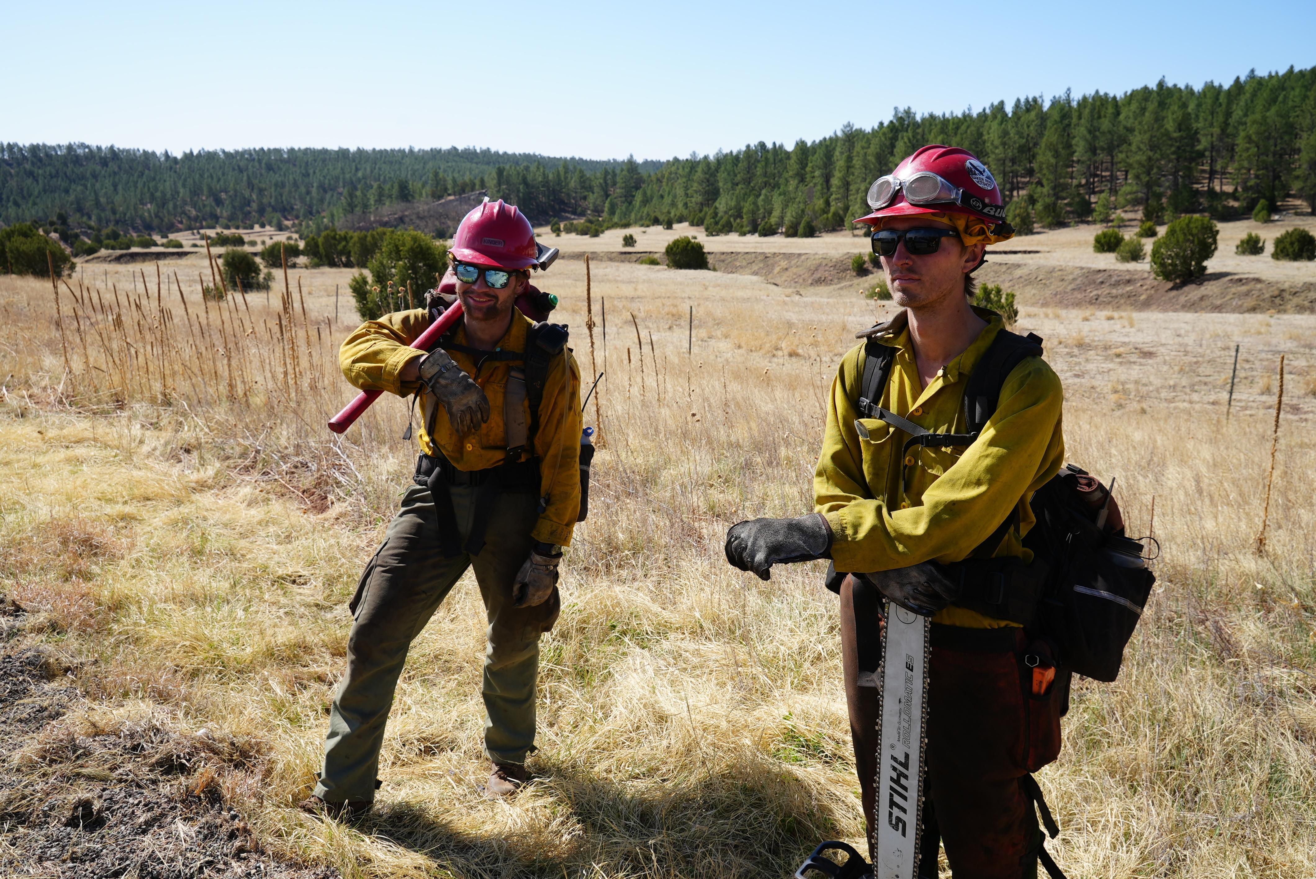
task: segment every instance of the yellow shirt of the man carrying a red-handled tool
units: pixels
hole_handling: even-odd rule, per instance
[[[525,351],[526,332],[533,324],[521,312],[512,312],[512,325],[499,342],[503,351]],[[484,389],[490,399],[490,420],[474,434],[461,437],[447,421],[447,413],[433,395],[418,382],[405,384],[397,378],[405,363],[416,357],[408,345],[429,328],[429,312],[413,309],[384,314],[376,321],[366,321],[347,337],[338,351],[342,374],[362,391],[388,391],[407,396],[420,391],[421,418],[420,447],[428,455],[443,455],[458,470],[484,470],[507,459],[507,428],[503,397],[507,391],[509,361],[484,361],[476,367],[475,358],[462,351],[449,354]],[[466,345],[466,326],[459,324],[453,341]],[[519,368],[524,364],[516,363]],[[526,424],[529,403],[524,403]],[[433,425],[433,433],[430,432]],[[580,512],[580,370],[570,349],[553,358],[544,383],[540,403],[540,425],[532,440],[534,457],[540,459],[541,497],[547,507],[530,536],[545,543],[566,546],[571,542],[576,516]],[[522,454],[529,458],[529,453]]]

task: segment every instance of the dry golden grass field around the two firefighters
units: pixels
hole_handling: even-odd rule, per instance
[[[583,328],[583,266],[563,261],[547,279]],[[594,295],[596,320],[608,300],[605,445],[544,642],[541,778],[515,803],[478,787],[484,624],[465,584],[412,649],[376,817],[349,828],[290,808],[318,768],[343,603],[413,455],[397,400],[341,440],[322,428],[350,393],[329,354],[346,329],[305,343],[332,295],[292,316],[296,380],[283,380],[287,337],[243,337],[247,362],[234,367],[263,391],[229,396],[226,363],[216,355],[213,380],[209,354],[191,347],[172,349],[162,391],[134,374],[116,386],[95,347],[92,383],[71,337],[66,376],[49,283],[0,278],[13,374],[0,393],[0,590],[34,611],[11,637],[58,650],[125,724],[250,742],[240,768],[254,783],[230,783],[234,805],[268,846],[349,876],[787,875],[821,838],[858,840],[821,566],[759,583],[725,565],[721,541],[738,518],[807,509],[826,384],[874,304],[621,263],[594,266]],[[250,305],[238,328],[278,316]],[[1271,324],[1257,329],[1309,339],[1316,321]],[[1258,387],[1278,359],[1266,350],[1294,345],[1296,368],[1309,349],[1240,338],[1228,316],[1083,324],[1053,309],[1020,325],[1070,339],[1049,353],[1066,380],[1069,457],[1119,478],[1134,532],[1154,496],[1165,550],[1124,674],[1076,688],[1061,759],[1040,774],[1062,826],[1058,861],[1112,879],[1309,878],[1309,397],[1286,400],[1267,553],[1250,549],[1274,405]],[[149,341],[149,317],[142,334],[128,341]],[[1255,353],[1245,345],[1227,425],[1219,379],[1234,341]],[[575,345],[587,361],[583,333]],[[1103,357],[1113,347],[1125,353]],[[193,388],[190,374],[212,380]]]

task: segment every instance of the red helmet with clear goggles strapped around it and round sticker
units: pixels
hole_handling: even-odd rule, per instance
[[[1005,222],[1004,199],[996,178],[978,157],[958,146],[924,146],[878,178],[869,188],[873,213],[855,222],[878,225],[883,217],[920,213],[963,213],[979,217],[999,232]]]

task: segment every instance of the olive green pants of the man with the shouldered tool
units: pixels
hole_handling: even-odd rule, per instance
[[[457,486],[450,491],[465,545],[476,490]],[[540,636],[553,628],[561,608],[557,590],[533,608],[512,605],[512,582],[530,553],[537,518],[533,495],[500,495],[479,555],[443,558],[429,490],[413,486],[407,491],[353,600],[347,672],[329,712],[316,796],[330,803],[375,799],[384,722],[407,650],[467,567],[475,568],[488,617],[484,754],[499,763],[525,762],[534,750]]]

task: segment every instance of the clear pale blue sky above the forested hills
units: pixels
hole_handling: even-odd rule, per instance
[[[1316,64],[1313,0],[0,0],[0,141],[175,153],[457,145],[665,159],[869,128],[894,107]]]

